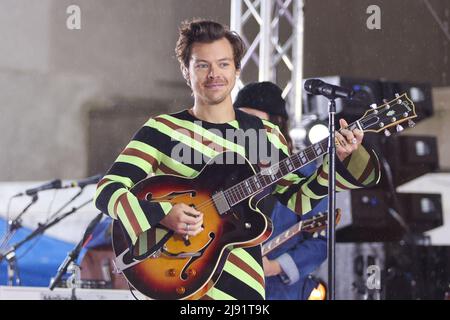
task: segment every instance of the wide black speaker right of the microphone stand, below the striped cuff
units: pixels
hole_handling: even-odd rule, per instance
[[[336,241],[400,241],[407,228],[420,235],[443,224],[440,194],[396,193],[396,197],[399,212],[392,210],[392,195],[383,188],[337,193],[336,206],[343,214],[336,227]]]

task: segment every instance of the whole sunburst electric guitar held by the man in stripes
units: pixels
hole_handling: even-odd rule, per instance
[[[373,106],[349,129],[381,132],[399,128],[404,121],[412,125],[416,116],[413,102],[403,94]],[[116,220],[113,247],[117,271],[150,299],[201,298],[217,282],[232,249],[256,246],[270,236],[271,221],[255,210],[256,197],[288,173],[323,156],[327,145],[328,139],[324,139],[259,173],[246,159],[233,154],[237,164],[220,164],[223,161],[213,158],[192,178],[161,175],[140,181],[131,189],[138,199],[193,206],[203,213],[204,230],[186,239],[162,226],[152,228],[144,239],[150,248],[147,255],[136,258]]]

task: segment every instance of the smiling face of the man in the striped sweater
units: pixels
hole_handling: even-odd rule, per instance
[[[192,46],[188,80],[196,103],[216,105],[230,98],[239,70],[233,48],[226,38]]]

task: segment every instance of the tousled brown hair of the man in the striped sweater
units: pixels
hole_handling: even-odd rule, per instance
[[[226,38],[233,47],[236,69],[241,68],[245,44],[241,37],[236,32],[230,31],[227,26],[211,20],[194,19],[192,21],[183,21],[179,34],[175,53],[182,70],[183,68],[189,68],[192,45],[195,42],[211,43],[222,38]]]

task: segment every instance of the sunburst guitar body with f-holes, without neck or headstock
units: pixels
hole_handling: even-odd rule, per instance
[[[240,157],[235,153],[233,156]],[[172,205],[184,203],[203,213],[204,230],[200,234],[190,237],[189,241],[173,234],[165,242],[162,252],[122,270],[128,282],[151,299],[201,298],[219,278],[232,249],[258,245],[272,233],[270,219],[253,210],[252,198],[225,213],[219,212],[212,196],[255,172],[244,158],[241,162],[234,162],[242,164],[234,165],[217,164],[214,159],[196,177],[154,176],[139,182],[131,190],[140,200],[165,201]],[[152,228],[147,232],[148,238],[155,236],[152,233],[156,232],[158,228]],[[115,221],[113,247],[116,256],[123,254],[128,244],[127,234],[120,222]],[[174,256],[180,253],[197,255]],[[130,256],[128,261],[132,261]]]

